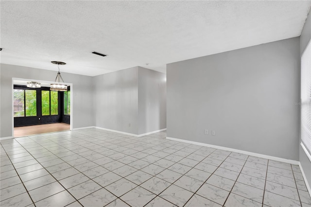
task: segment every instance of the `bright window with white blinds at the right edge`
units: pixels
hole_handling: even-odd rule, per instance
[[[311,155],[311,43],[310,42],[301,57],[301,142],[309,152],[309,155]]]

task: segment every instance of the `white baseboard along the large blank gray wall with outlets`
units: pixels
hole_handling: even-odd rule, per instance
[[[190,143],[190,144],[196,144],[196,145],[201,145],[201,146],[207,146],[207,147],[212,147],[212,148],[216,148],[216,149],[222,149],[222,150],[227,150],[227,151],[231,151],[231,152],[242,153],[245,155],[255,156],[255,157],[259,157],[259,158],[272,159],[272,160],[276,160],[276,161],[280,161],[280,162],[287,162],[290,164],[299,165],[299,161],[292,160],[292,159],[278,158],[278,157],[274,157],[274,156],[262,155],[262,154],[243,151],[243,150],[239,150],[239,149],[233,149],[233,148],[217,146],[217,145],[212,145],[212,144],[207,144],[207,143],[198,143],[198,142],[193,142],[193,141],[189,141],[189,140],[181,140],[181,139],[176,139],[176,138],[172,138],[172,137],[166,137],[166,139],[179,141],[179,142],[183,142],[183,143]]]

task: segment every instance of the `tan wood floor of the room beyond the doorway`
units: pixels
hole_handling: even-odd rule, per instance
[[[14,137],[43,134],[55,131],[70,130],[70,125],[65,123],[43,124],[26,127],[14,127]]]

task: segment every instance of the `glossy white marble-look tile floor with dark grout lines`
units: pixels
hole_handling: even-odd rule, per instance
[[[89,128],[1,141],[1,207],[311,207],[297,165]]]

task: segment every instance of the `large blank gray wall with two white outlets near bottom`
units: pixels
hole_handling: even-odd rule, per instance
[[[168,64],[167,136],[298,160],[299,62],[296,37]]]

